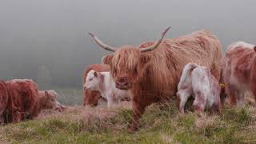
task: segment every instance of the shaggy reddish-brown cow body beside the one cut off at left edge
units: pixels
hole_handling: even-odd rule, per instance
[[[6,122],[21,122],[38,116],[38,85],[30,79],[14,79],[6,82],[9,100]]]

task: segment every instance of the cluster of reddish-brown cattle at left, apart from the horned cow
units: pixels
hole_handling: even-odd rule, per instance
[[[21,122],[38,117],[41,110],[66,108],[56,101],[54,90],[39,91],[30,79],[0,81],[0,123]]]

